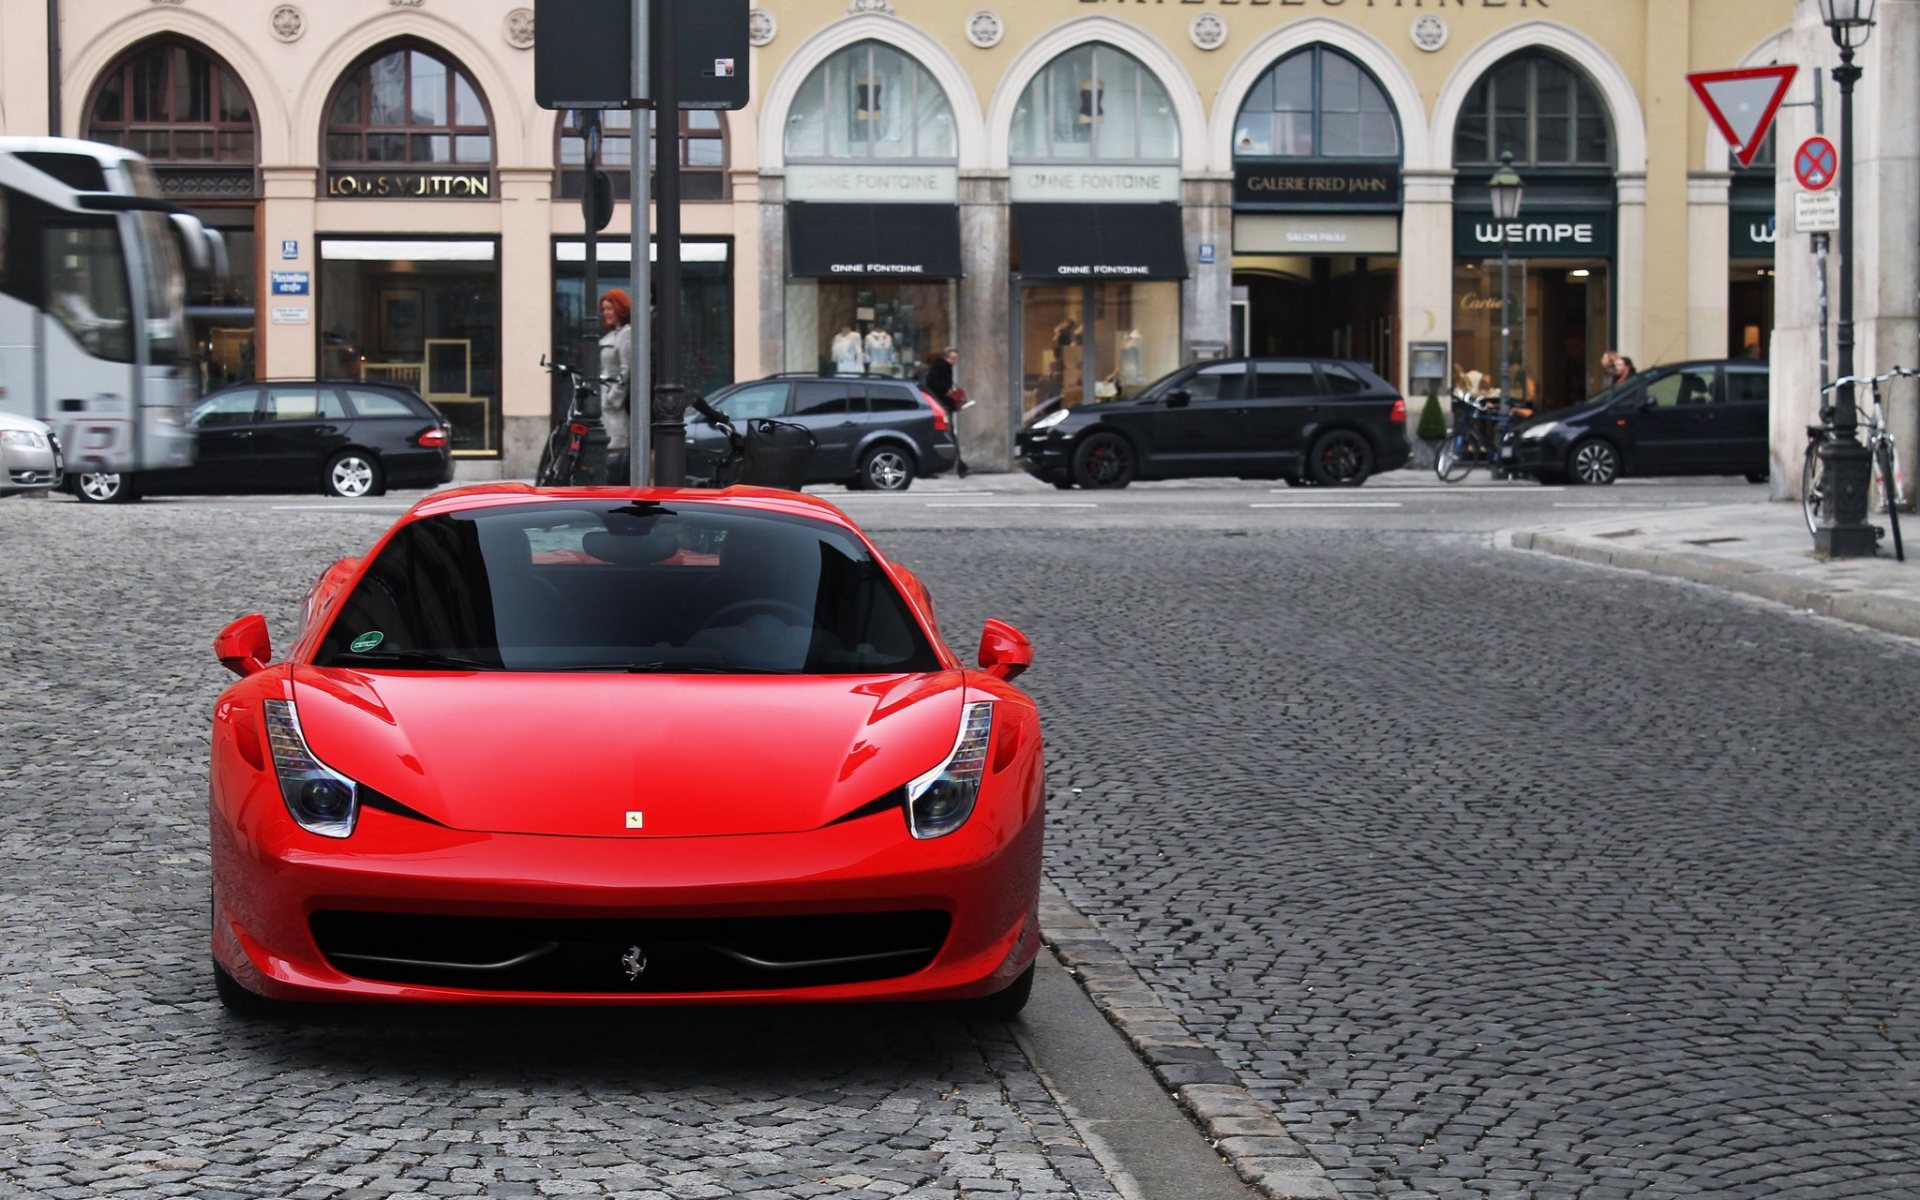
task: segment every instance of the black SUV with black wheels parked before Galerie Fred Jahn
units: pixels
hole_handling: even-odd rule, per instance
[[[1361,363],[1225,359],[1056,409],[1020,430],[1016,453],[1056,488],[1210,474],[1354,486],[1407,465],[1407,401]]]

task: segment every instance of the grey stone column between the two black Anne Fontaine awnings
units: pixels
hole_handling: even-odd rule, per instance
[[[960,386],[973,401],[960,417],[960,445],[975,470],[1010,470],[1020,430],[1020,378],[1012,353],[1012,209],[1006,175],[960,177],[958,328]]]

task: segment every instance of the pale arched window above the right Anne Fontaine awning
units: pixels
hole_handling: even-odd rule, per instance
[[[1092,42],[1046,63],[1014,106],[1014,161],[1175,163],[1167,88],[1125,50]]]

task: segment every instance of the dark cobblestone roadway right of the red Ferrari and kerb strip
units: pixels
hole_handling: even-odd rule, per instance
[[[1348,1196],[1920,1194],[1920,649],[1342,530],[879,530],[1048,872]]]

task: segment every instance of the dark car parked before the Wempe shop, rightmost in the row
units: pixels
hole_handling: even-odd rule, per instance
[[[1766,363],[1701,359],[1649,367],[1586,403],[1515,428],[1511,467],[1542,484],[1622,474],[1743,474],[1764,482]]]

